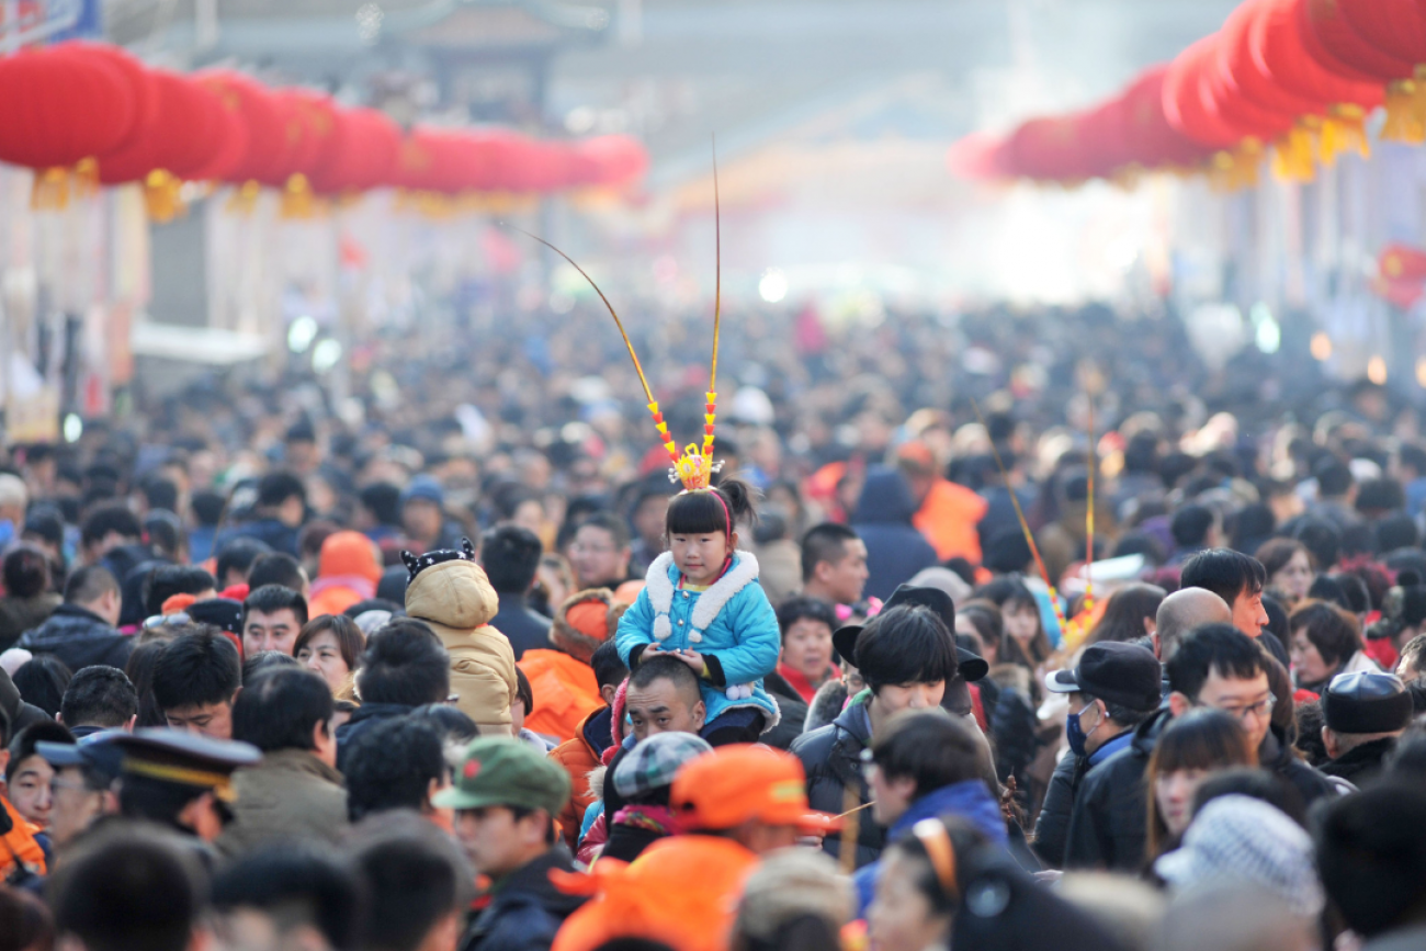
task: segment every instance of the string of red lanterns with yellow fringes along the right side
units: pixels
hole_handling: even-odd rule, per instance
[[[948,164],[967,178],[1175,170],[1241,187],[1271,157],[1279,177],[1308,181],[1319,163],[1369,154],[1365,123],[1383,106],[1383,140],[1426,143],[1426,0],[1246,0],[1112,100],[970,135]]]

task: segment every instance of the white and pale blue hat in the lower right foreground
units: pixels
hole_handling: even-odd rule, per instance
[[[1239,878],[1268,888],[1298,914],[1322,913],[1322,883],[1306,830],[1268,803],[1221,796],[1205,804],[1184,834],[1184,847],[1154,863],[1176,890]]]

